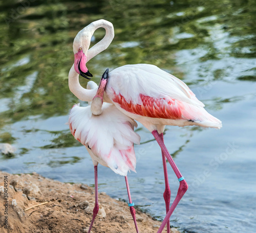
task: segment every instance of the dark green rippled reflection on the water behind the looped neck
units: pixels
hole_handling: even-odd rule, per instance
[[[46,119],[68,114],[77,102],[68,88],[73,39],[99,18],[113,22],[115,38],[107,50],[88,63],[96,82],[106,67],[135,63],[155,64],[180,79],[186,77],[191,85],[225,82],[234,67],[216,68],[208,79],[212,61],[250,59],[256,52],[254,1],[56,0],[33,1],[26,7],[12,0],[0,5],[0,99],[5,98],[5,109],[0,112],[2,142],[16,141],[7,127],[14,122],[30,116]],[[97,30],[94,36],[92,45],[104,36],[104,30]],[[177,64],[177,52],[184,50],[189,55],[182,62],[189,56],[197,57],[202,74],[190,78]],[[235,79],[255,81],[255,68],[244,70]],[[80,77],[80,83],[86,87],[87,80]],[[239,100],[216,98],[210,105],[221,109],[223,103]],[[69,132],[61,132],[50,141],[41,148],[78,145]]]

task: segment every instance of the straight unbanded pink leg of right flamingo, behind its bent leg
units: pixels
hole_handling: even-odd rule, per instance
[[[160,138],[163,141],[163,133],[160,134]],[[169,211],[169,208],[170,208],[170,187],[169,187],[169,181],[168,181],[166,158],[164,156],[163,151],[162,151],[162,160],[163,160],[163,173],[164,173],[164,182],[165,182],[165,190],[163,193],[163,198],[165,201],[165,208],[166,208],[166,214],[167,214]],[[167,221],[167,233],[170,233],[170,220],[169,219]]]

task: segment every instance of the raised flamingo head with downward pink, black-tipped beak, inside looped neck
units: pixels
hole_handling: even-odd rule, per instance
[[[93,75],[89,72],[86,67],[87,62],[87,51],[90,45],[90,40],[88,44],[88,35],[81,30],[75,37],[73,43],[73,51],[75,56],[75,71],[86,79],[91,79]]]

